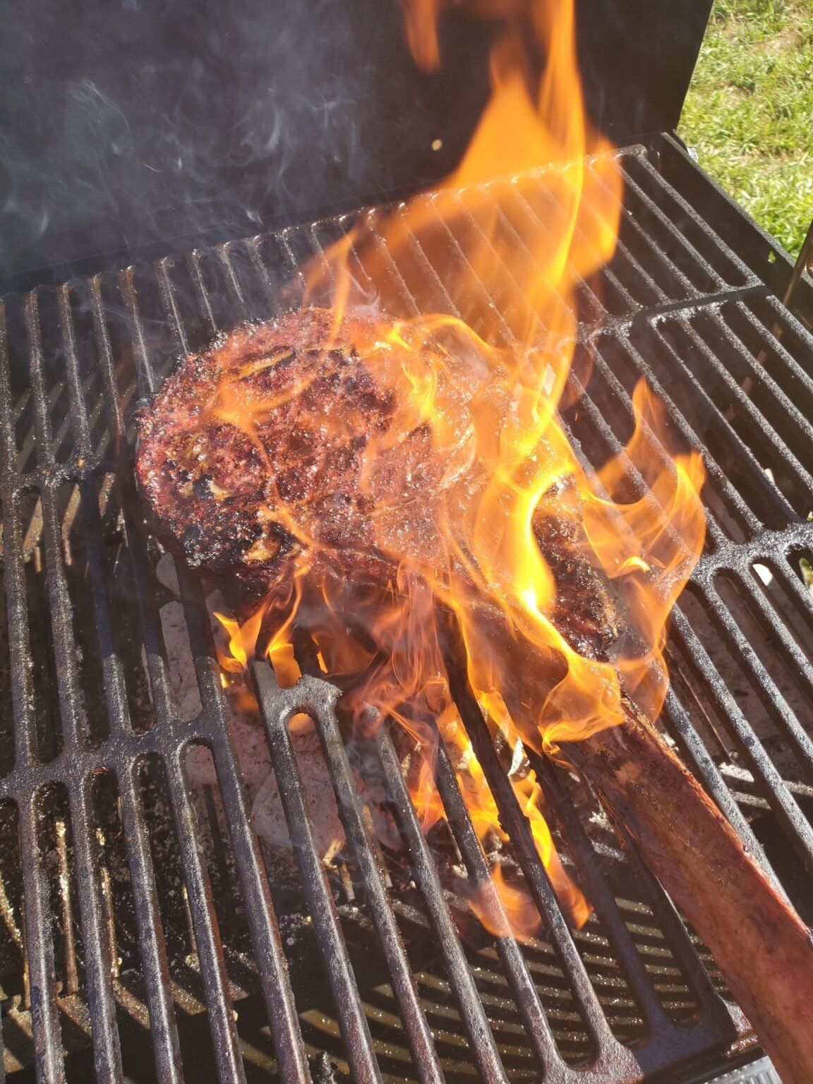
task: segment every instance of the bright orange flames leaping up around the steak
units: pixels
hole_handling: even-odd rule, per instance
[[[443,0],[402,5],[416,63],[437,67]],[[375,541],[396,570],[391,586],[386,597],[357,601],[348,622],[331,584],[309,579],[307,555],[317,543],[292,512],[285,526],[305,556],[291,597],[269,598],[242,625],[219,615],[230,637],[224,670],[244,667],[258,649],[260,630],[273,628],[261,649],[281,683],[291,684],[298,676],[291,633],[307,595],[320,669],[356,678],[349,695],[358,710],[377,708],[421,743],[423,767],[411,789],[427,829],[442,816],[431,771],[436,723],[443,733],[456,720],[441,610],[456,616],[469,679],[493,730],[509,741],[521,736],[538,750],[555,751],[565,739],[620,721],[621,680],[657,714],[667,686],[667,619],[705,532],[701,462],[694,453],[662,455],[663,412],[645,386],[635,390],[625,454],[597,476],[582,467],[559,422],[559,406],[571,393],[575,289],[611,257],[621,196],[612,149],[584,113],[573,0],[477,0],[470,7],[499,29],[491,99],[459,168],[438,192],[401,205],[384,222],[378,217],[375,232],[362,221],[306,275],[309,299],[327,298],[332,307],[334,340],[351,307],[382,313],[356,333],[353,346],[373,372],[386,373],[399,406],[391,428],[380,438],[371,435],[362,453],[366,478],[374,487],[377,459],[404,434],[421,428],[430,436],[446,472],[446,495],[431,512],[442,557],[425,556],[421,540],[408,537],[408,513],[395,509],[396,530],[393,509],[385,509]],[[532,232],[522,230],[516,199],[506,197],[516,193],[532,201]],[[393,268],[402,259],[414,264],[416,250],[428,256],[427,275],[428,268],[440,269],[434,288],[454,299],[449,311],[403,312]],[[256,411],[267,408],[249,409],[238,397],[218,404],[223,418],[253,439]],[[644,495],[629,492],[631,467]],[[575,537],[588,559],[614,581],[627,606],[634,635],[623,637],[611,660],[577,648],[563,631],[556,580],[539,544],[546,515],[578,524]],[[499,615],[496,635],[493,620],[482,619],[483,601],[489,614]],[[559,667],[559,679],[532,706],[518,704],[511,687],[506,658],[518,643],[532,648],[541,668],[554,658]],[[485,843],[502,831],[498,811],[460,724],[456,735],[459,779]],[[589,906],[558,859],[539,783],[528,773],[514,785],[559,899],[580,925]],[[525,890],[499,864],[493,877],[512,930],[532,935],[537,912]],[[483,909],[481,915],[487,921]]]

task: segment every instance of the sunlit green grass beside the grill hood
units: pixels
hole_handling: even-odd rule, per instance
[[[679,131],[796,256],[813,218],[813,0],[715,0]]]

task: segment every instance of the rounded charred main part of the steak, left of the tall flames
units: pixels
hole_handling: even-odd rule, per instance
[[[136,474],[152,526],[224,578],[241,610],[308,547],[345,576],[379,580],[377,542],[397,529],[398,507],[415,505],[414,519],[448,473],[428,426],[398,416],[388,374],[361,357],[380,317],[333,320],[305,309],[237,328],[183,360],[139,420]]]

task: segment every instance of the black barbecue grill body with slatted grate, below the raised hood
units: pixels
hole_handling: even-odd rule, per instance
[[[691,8],[681,41],[694,49],[673,57],[681,98],[707,14],[689,20]],[[621,452],[645,376],[673,431],[704,455],[708,543],[674,610],[662,723],[810,922],[811,284],[797,276],[786,297],[787,256],[664,131],[678,116],[666,96],[660,113],[647,99],[647,122],[653,109],[669,121],[655,134],[629,114],[615,125],[637,137],[618,151],[620,241],[579,291],[578,395],[564,422],[593,469]],[[544,229],[532,180],[492,191],[501,231],[529,253]],[[361,183],[360,195],[380,194]],[[159,228],[151,220],[139,254],[158,255],[137,263],[82,243],[67,258],[63,223],[41,242],[55,246],[50,264],[10,272],[24,291],[5,298],[0,332],[0,1074],[688,1084],[749,1064],[760,1050],[747,1020],[630,838],[572,773],[526,750],[563,861],[595,908],[568,928],[463,680],[457,706],[509,837],[505,857],[543,917],[539,939],[492,937],[466,904],[461,886],[487,883],[488,863],[442,741],[446,821],[424,835],[392,726],[346,743],[338,691],[305,651],[291,688],[269,663],[250,668],[295,862],[255,833],[205,588],[183,568],[177,584],[162,575],[143,529],[133,412],[178,357],[297,305],[304,264],[360,219],[389,260],[390,309],[466,319],[457,231],[478,230],[472,217],[441,221],[437,250],[415,240],[389,258],[378,223],[397,201],[315,222],[283,210],[282,229],[175,238],[163,253],[155,233],[143,247]],[[60,282],[68,264],[88,275]],[[354,270],[363,282],[361,256]],[[509,341],[504,298],[485,300]],[[579,358],[592,362],[584,387]],[[643,491],[632,470],[629,485]],[[179,702],[164,620],[176,590],[193,712]],[[288,725],[302,713],[344,827],[328,863]]]

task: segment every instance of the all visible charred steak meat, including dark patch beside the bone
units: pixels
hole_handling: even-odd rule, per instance
[[[442,448],[415,414],[396,321],[364,310],[304,309],[247,324],[181,361],[139,418],[136,475],[151,526],[214,576],[246,615],[307,555],[359,585],[392,578],[392,555],[448,559],[438,502],[476,499],[472,404],[499,392],[426,336]],[[414,380],[414,376],[413,376]],[[604,650],[616,620],[579,553],[571,492],[550,495],[537,537],[559,585],[558,621],[583,654]],[[326,567],[327,566],[327,567]]]

